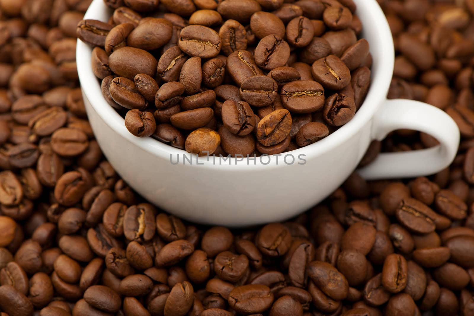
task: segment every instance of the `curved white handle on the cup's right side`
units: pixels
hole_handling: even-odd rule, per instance
[[[413,100],[386,100],[375,114],[371,136],[382,140],[393,130],[425,132],[438,139],[428,149],[379,154],[358,170],[367,180],[427,176],[439,172],[453,161],[459,146],[456,122],[435,106]]]

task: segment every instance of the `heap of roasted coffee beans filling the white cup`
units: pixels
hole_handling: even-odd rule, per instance
[[[279,154],[365,99],[372,57],[352,0],[106,0],[82,20],[102,93],[137,137],[200,156]]]

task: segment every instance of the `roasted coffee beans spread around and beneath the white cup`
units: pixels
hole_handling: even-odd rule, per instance
[[[397,55],[416,70],[410,79],[396,70],[390,92],[449,89],[444,109],[458,113],[463,136],[450,167],[404,180],[354,173],[288,222],[232,231],[156,209],[102,157],[75,69],[76,26],[90,2],[0,0],[1,316],[474,315],[474,52],[456,46],[474,40],[472,1],[382,3],[400,36],[433,49],[432,38],[449,39],[433,35],[442,25],[453,35],[446,54],[463,52],[436,55],[425,70],[414,60],[429,49]],[[81,22],[99,30],[93,23]],[[440,65],[450,63],[461,68],[448,74]],[[441,72],[446,87],[434,89],[426,80]],[[434,144],[426,139],[397,131],[363,163],[377,147]]]

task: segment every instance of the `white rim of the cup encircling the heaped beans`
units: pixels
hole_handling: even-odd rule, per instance
[[[305,155],[306,160],[316,158],[317,156],[341,145],[344,141],[349,139],[355,133],[360,131],[365,124],[370,123],[375,112],[383,103],[388,92],[390,82],[392,80],[393,65],[394,65],[394,47],[392,40],[392,32],[387,20],[383,14],[382,9],[376,0],[354,0],[357,5],[356,13],[363,24],[364,34],[374,34],[377,45],[374,40],[369,41],[370,52],[373,56],[373,65],[371,68],[371,85],[367,92],[364,102],[360,106],[354,118],[340,127],[328,137],[319,140],[311,145],[295,149],[289,152],[284,152],[281,155],[292,154],[294,157]],[[363,8],[361,10],[361,8]],[[97,19],[107,21],[110,17],[111,10],[105,5],[103,0],[93,0],[91,6],[84,15],[84,19]],[[100,116],[112,130],[114,130],[120,137],[127,139],[134,143],[139,148],[146,150],[154,156],[171,159],[177,155],[186,155],[188,157],[196,155],[190,154],[183,149],[177,149],[170,145],[164,144],[157,139],[151,137],[139,138],[132,135],[124,124],[124,119],[109,105],[102,95],[99,79],[93,74],[91,67],[91,46],[77,40],[76,48],[76,62],[81,82],[82,94],[87,99],[85,102],[91,104],[92,109]],[[382,60],[383,58],[383,60]],[[89,113],[91,114],[91,113]],[[113,141],[113,140],[112,140]],[[237,160],[237,158],[228,158],[229,163],[215,164],[211,159],[199,159],[199,167],[205,168],[225,168],[230,170],[242,170],[248,168],[278,167],[275,159],[269,159],[268,164],[264,164],[259,158],[256,158],[255,164],[249,164],[246,159]],[[170,163],[171,164],[171,163]],[[194,165],[194,164],[193,164]]]

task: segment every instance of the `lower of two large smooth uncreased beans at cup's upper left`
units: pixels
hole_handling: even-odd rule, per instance
[[[137,74],[154,77],[157,65],[155,57],[135,47],[122,47],[109,56],[110,69],[115,74],[130,80],[133,80]]]

